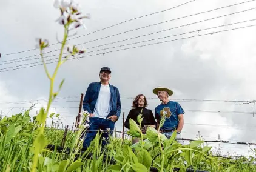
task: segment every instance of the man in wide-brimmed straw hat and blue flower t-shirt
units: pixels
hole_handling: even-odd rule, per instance
[[[160,128],[168,139],[172,136],[173,131],[177,130],[177,138],[181,138],[180,133],[184,125],[184,110],[178,102],[169,101],[168,97],[172,96],[172,90],[164,87],[153,89],[153,93],[158,96],[162,102],[155,108],[155,119],[159,127],[161,117],[165,117],[166,121]]]

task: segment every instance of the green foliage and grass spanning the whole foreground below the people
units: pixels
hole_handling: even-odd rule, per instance
[[[141,119],[138,119],[139,121]],[[37,171],[149,171],[150,167],[158,171],[173,171],[187,168],[206,171],[256,171],[256,165],[248,161],[255,159],[240,158],[238,160],[213,157],[211,147],[203,147],[203,141],[193,141],[189,145],[181,145],[149,127],[146,134],[141,133],[135,121],[130,121],[130,133],[141,138],[142,142],[132,145],[129,140],[111,138],[106,150],[99,146],[99,135],[89,150],[79,154],[81,134],[84,128],[75,133],[68,131],[65,147],[71,148],[70,153],[43,149],[38,157]],[[49,144],[61,145],[63,130],[45,128],[45,139],[38,143],[36,136],[39,125],[30,120],[29,111],[11,117],[3,117],[0,121],[0,171],[30,171],[35,147],[42,147],[44,141]],[[43,147],[44,148],[44,147]],[[93,153],[92,159],[84,159],[87,153]],[[208,156],[208,154],[210,154]],[[104,159],[107,155],[107,159]],[[115,164],[110,164],[111,158]]]

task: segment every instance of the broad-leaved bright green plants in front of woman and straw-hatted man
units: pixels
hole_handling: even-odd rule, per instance
[[[117,154],[115,160],[116,165],[109,167],[109,170],[112,171],[149,171],[150,165],[153,164],[161,172],[171,171],[174,168],[175,160],[186,160],[188,165],[193,165],[192,160],[195,160],[195,164],[200,164],[200,160],[204,157],[207,160],[211,160],[211,157],[207,156],[207,152],[211,150],[211,147],[202,147],[204,141],[192,141],[189,145],[181,145],[175,141],[176,131],[173,132],[172,137],[167,139],[164,134],[160,133],[160,129],[156,130],[153,127],[148,127],[146,135],[141,131],[141,121],[143,118],[142,115],[138,115],[138,123],[136,124],[133,119],[130,119],[130,134],[133,137],[140,137],[140,142],[123,147],[123,153]],[[160,127],[164,124],[165,118],[162,118],[160,121]],[[159,128],[160,128],[159,127]],[[158,146],[160,153],[157,157],[150,156],[149,148]],[[132,148],[134,151],[132,151]],[[183,167],[186,167],[185,161],[183,161]],[[212,162],[214,164],[214,162]],[[214,164],[217,165],[217,164]]]

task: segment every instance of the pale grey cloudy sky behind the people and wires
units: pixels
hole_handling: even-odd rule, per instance
[[[256,19],[256,10],[249,10],[256,7],[255,1],[181,18],[214,8],[245,2],[241,0],[195,0],[181,7],[125,22],[87,36],[82,35],[138,16],[166,10],[189,1],[131,0],[124,2],[116,0],[86,0],[77,2],[80,3],[82,12],[84,14],[89,13],[91,18],[84,20],[87,27],[86,30],[83,28],[76,30],[77,34],[75,36],[81,37],[70,40],[69,44],[83,44],[105,36],[115,35],[124,31],[128,32],[83,44],[84,48],[88,48],[88,53],[85,56],[96,53],[99,53],[99,55],[88,56],[79,60],[73,59],[62,65],[55,82],[55,86],[58,88],[61,79],[65,78],[59,97],[75,96],[73,98],[59,99],[52,105],[52,112],[61,113],[63,124],[72,125],[75,122],[75,117],[78,114],[79,96],[81,93],[85,93],[90,82],[99,81],[98,73],[103,66],[108,66],[112,69],[110,84],[119,88],[122,112],[126,115],[132,103],[132,99],[128,98],[135,97],[136,94],[143,93],[147,98],[154,98],[149,100],[148,108],[152,110],[160,104],[156,99],[157,97],[152,93],[152,89],[157,86],[165,86],[172,89],[174,94],[171,98],[173,99],[231,101],[255,99],[256,50],[254,46],[256,41],[254,38],[256,27],[247,27],[256,24],[256,21],[248,21]],[[29,103],[21,104],[21,101],[40,99],[38,101],[39,104],[36,105],[37,108],[31,111],[31,114],[34,115],[41,105],[46,105],[47,102],[41,101],[41,99],[47,99],[49,92],[49,80],[42,65],[29,67],[41,61],[39,56],[33,56],[38,55],[39,51],[33,50],[25,53],[16,53],[15,55],[4,54],[34,49],[36,38],[49,39],[50,44],[57,42],[56,37],[62,39],[63,28],[55,22],[59,17],[59,10],[53,7],[53,1],[0,0],[0,4],[0,53],[2,54],[0,58],[0,110],[4,115],[19,113],[22,108],[27,108],[31,105]],[[241,12],[244,10],[248,11]],[[232,13],[236,14],[229,15]],[[211,19],[223,15],[227,16]],[[164,22],[172,19],[175,20]],[[198,22],[206,19],[211,20]],[[164,23],[158,24],[160,22]],[[198,23],[192,24],[194,22]],[[234,24],[236,22],[241,23]],[[148,25],[153,26],[141,28]],[[217,27],[221,25],[226,26]],[[211,27],[217,28],[204,30]],[[216,33],[240,27],[247,28]],[[136,28],[141,29],[129,31]],[[167,30],[169,28],[175,29]],[[111,42],[161,30],[167,31],[110,44]],[[180,35],[190,31],[195,32]],[[215,33],[204,35],[212,32]],[[157,39],[164,36],[172,37]],[[197,37],[181,39],[191,36]],[[155,40],[147,41],[149,39]],[[170,41],[173,39],[178,40]],[[110,48],[140,41],[147,42]],[[154,44],[162,41],[169,42]],[[103,44],[109,45],[90,48]],[[108,51],[146,44],[154,45],[107,53]],[[45,52],[58,50],[58,48],[58,44],[53,45]],[[110,49],[101,50],[103,48]],[[90,53],[90,51],[95,52]],[[47,53],[45,56],[58,53],[59,51],[55,51]],[[33,57],[26,58],[28,56]],[[52,56],[47,59],[57,57]],[[25,58],[27,61],[20,61],[19,58]],[[15,61],[10,61],[13,59]],[[22,65],[27,68],[21,68]],[[51,72],[55,65],[55,63],[48,65]],[[6,71],[9,69],[16,70]],[[256,142],[256,116],[253,117],[252,114],[249,114],[253,112],[252,107],[254,104],[237,105],[235,102],[205,101],[179,102],[186,112],[184,115],[183,137],[194,139],[197,132],[200,131],[204,139],[208,140],[218,139],[218,134],[220,134],[220,139],[223,140]],[[240,111],[241,113],[232,113],[234,111]],[[121,117],[116,122],[118,130],[121,130],[122,120]]]

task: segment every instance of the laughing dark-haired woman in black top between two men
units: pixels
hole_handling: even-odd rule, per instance
[[[142,131],[143,133],[146,133],[146,128],[147,126],[152,126],[152,127],[156,127],[157,126],[157,122],[155,122],[152,110],[147,109],[147,99],[143,94],[139,94],[138,96],[136,96],[136,98],[133,100],[132,102],[132,107],[133,109],[130,110],[127,118],[126,118],[126,122],[124,122],[124,126],[128,129],[130,129],[130,124],[129,124],[129,119],[133,119],[138,125],[140,125],[137,121],[137,117],[138,115],[141,113],[142,111],[142,117],[143,117],[143,121],[141,122],[141,127],[142,127]]]

